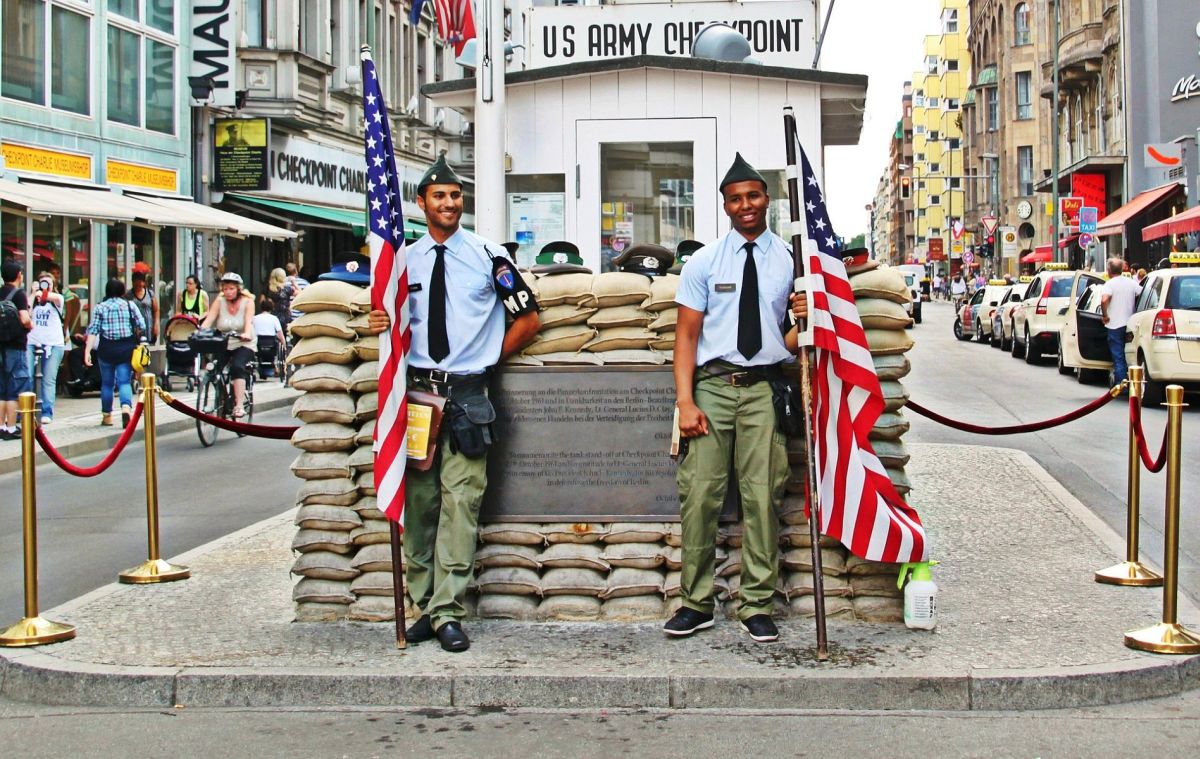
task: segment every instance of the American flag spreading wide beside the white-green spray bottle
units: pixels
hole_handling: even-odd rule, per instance
[[[883,413],[883,390],[821,186],[803,147],[800,161],[809,239],[820,251],[810,251],[808,263],[821,532],[869,561],[928,561],[920,518],[896,492],[868,440]]]

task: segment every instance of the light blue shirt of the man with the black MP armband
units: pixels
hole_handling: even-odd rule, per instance
[[[494,366],[504,346],[504,306],[492,282],[493,256],[504,256],[499,245],[460,228],[445,241],[446,252],[446,336],[450,353],[442,360],[430,358],[430,276],[437,261],[428,234],[408,249],[409,323],[413,347],[409,365],[472,375]],[[420,286],[416,288],[416,286]]]

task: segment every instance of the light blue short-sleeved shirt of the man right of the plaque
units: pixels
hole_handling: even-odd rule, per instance
[[[742,271],[746,239],[730,229],[701,247],[679,273],[676,303],[704,315],[696,346],[696,365],[722,359],[738,366],[763,366],[791,360],[784,343],[781,325],[787,317],[787,297],[792,292],[792,253],[784,240],[767,229],[754,240],[755,267],[758,271],[758,321],[762,348],[746,360],[738,352],[738,307],[742,301]]]

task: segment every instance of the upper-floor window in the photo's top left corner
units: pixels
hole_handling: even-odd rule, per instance
[[[13,0],[4,4],[0,25],[0,96],[37,106],[49,102],[71,113],[91,112],[86,16],[46,0]],[[48,49],[72,54],[49,56],[47,72]]]

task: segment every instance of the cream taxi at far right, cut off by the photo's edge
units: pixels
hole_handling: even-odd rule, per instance
[[[1162,404],[1168,384],[1200,390],[1200,267],[1151,271],[1126,329],[1126,360],[1142,367],[1145,404]]]

